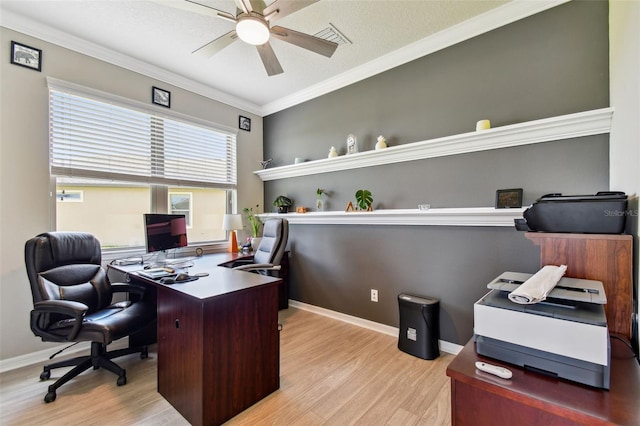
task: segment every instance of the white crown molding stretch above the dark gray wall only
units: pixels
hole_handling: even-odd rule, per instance
[[[261,107],[262,116],[274,114],[286,108],[301,104],[569,1],[570,0],[510,1],[500,7],[430,35],[333,78],[310,86],[290,96],[285,96],[267,103]]]

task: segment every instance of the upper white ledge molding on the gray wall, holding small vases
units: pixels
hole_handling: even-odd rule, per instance
[[[335,158],[307,161],[253,172],[263,181],[352,170],[382,164],[444,157],[490,149],[609,133],[613,108],[544,118],[479,132],[396,145]]]

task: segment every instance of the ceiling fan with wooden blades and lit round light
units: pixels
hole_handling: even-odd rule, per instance
[[[236,24],[234,30],[205,44],[193,53],[210,58],[234,41],[240,39],[256,46],[260,59],[269,76],[281,74],[282,66],[276,57],[269,39],[271,37],[286,41],[303,49],[330,58],[338,45],[328,40],[294,31],[280,26],[271,26],[277,19],[303,9],[319,0],[276,0],[266,5],[264,0],[234,0],[236,15],[214,9],[192,0],[165,3],[172,7],[191,12],[222,18]]]

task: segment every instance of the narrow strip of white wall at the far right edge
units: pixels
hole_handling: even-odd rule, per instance
[[[633,195],[635,213],[634,266],[638,274],[638,201],[640,194],[640,2],[609,3],[611,128],[609,162],[611,189]],[[638,306],[640,311],[640,302]],[[637,336],[640,340],[640,335]]]

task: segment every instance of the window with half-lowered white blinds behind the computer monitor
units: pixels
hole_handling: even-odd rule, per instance
[[[236,189],[235,130],[48,79],[58,230],[103,248],[143,247],[143,213],[183,213],[190,244],[226,239]],[[155,207],[154,207],[155,206]]]

